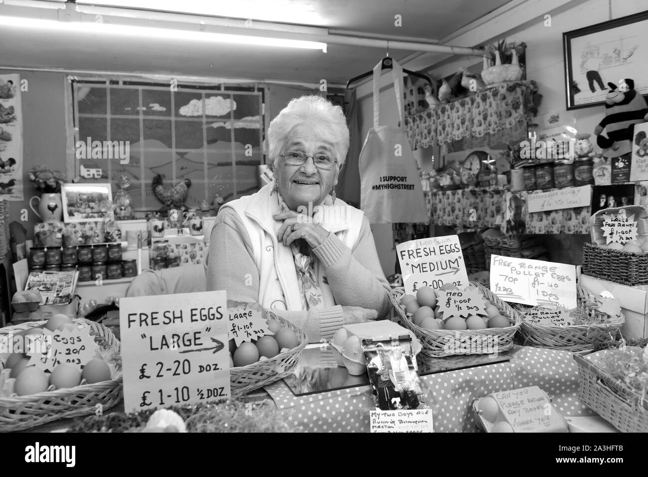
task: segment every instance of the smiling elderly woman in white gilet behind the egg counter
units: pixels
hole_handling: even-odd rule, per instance
[[[290,101],[270,123],[268,145],[272,183],[218,213],[207,290],[274,308],[310,342],[384,318],[389,283],[369,222],[335,195],[349,149],[341,108],[319,96]]]

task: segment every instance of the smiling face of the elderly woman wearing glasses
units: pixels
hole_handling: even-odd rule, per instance
[[[300,124],[292,130],[292,134],[282,150],[297,151],[307,154],[308,159],[301,166],[287,165],[283,157],[277,158],[275,176],[279,186],[279,194],[291,210],[308,203],[321,204],[333,186],[338,183],[340,168],[337,163],[331,169],[315,167],[312,157],[325,154],[334,157],[333,146],[328,141],[323,141],[316,130],[316,126]]]

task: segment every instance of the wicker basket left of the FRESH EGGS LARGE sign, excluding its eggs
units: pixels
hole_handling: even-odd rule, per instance
[[[89,329],[90,336],[104,350],[114,353],[117,374],[110,381],[85,384],[76,388],[45,391],[29,396],[0,397],[0,431],[12,432],[40,426],[58,419],[94,414],[100,404],[103,412],[121,401],[121,345],[115,335],[100,323],[75,319],[75,323]],[[43,325],[45,321],[30,321],[0,329],[0,334],[23,331]]]

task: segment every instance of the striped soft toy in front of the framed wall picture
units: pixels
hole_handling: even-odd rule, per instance
[[[619,157],[632,150],[634,124],[648,121],[648,104],[634,89],[634,81],[626,78],[620,86],[608,83],[605,96],[605,117],[594,129],[596,143],[605,157]],[[608,137],[601,135],[607,128]]]

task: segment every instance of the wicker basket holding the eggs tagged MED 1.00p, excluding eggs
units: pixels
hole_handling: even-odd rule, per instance
[[[399,313],[402,323],[413,331],[421,341],[421,353],[432,358],[452,355],[486,355],[507,351],[513,346],[513,336],[522,323],[520,314],[480,283],[471,281],[470,284],[476,286],[483,296],[500,310],[500,314],[511,323],[510,327],[467,331],[422,329],[415,325],[405,311],[400,308],[400,300],[405,296],[405,289],[401,286],[391,290],[391,303]]]

